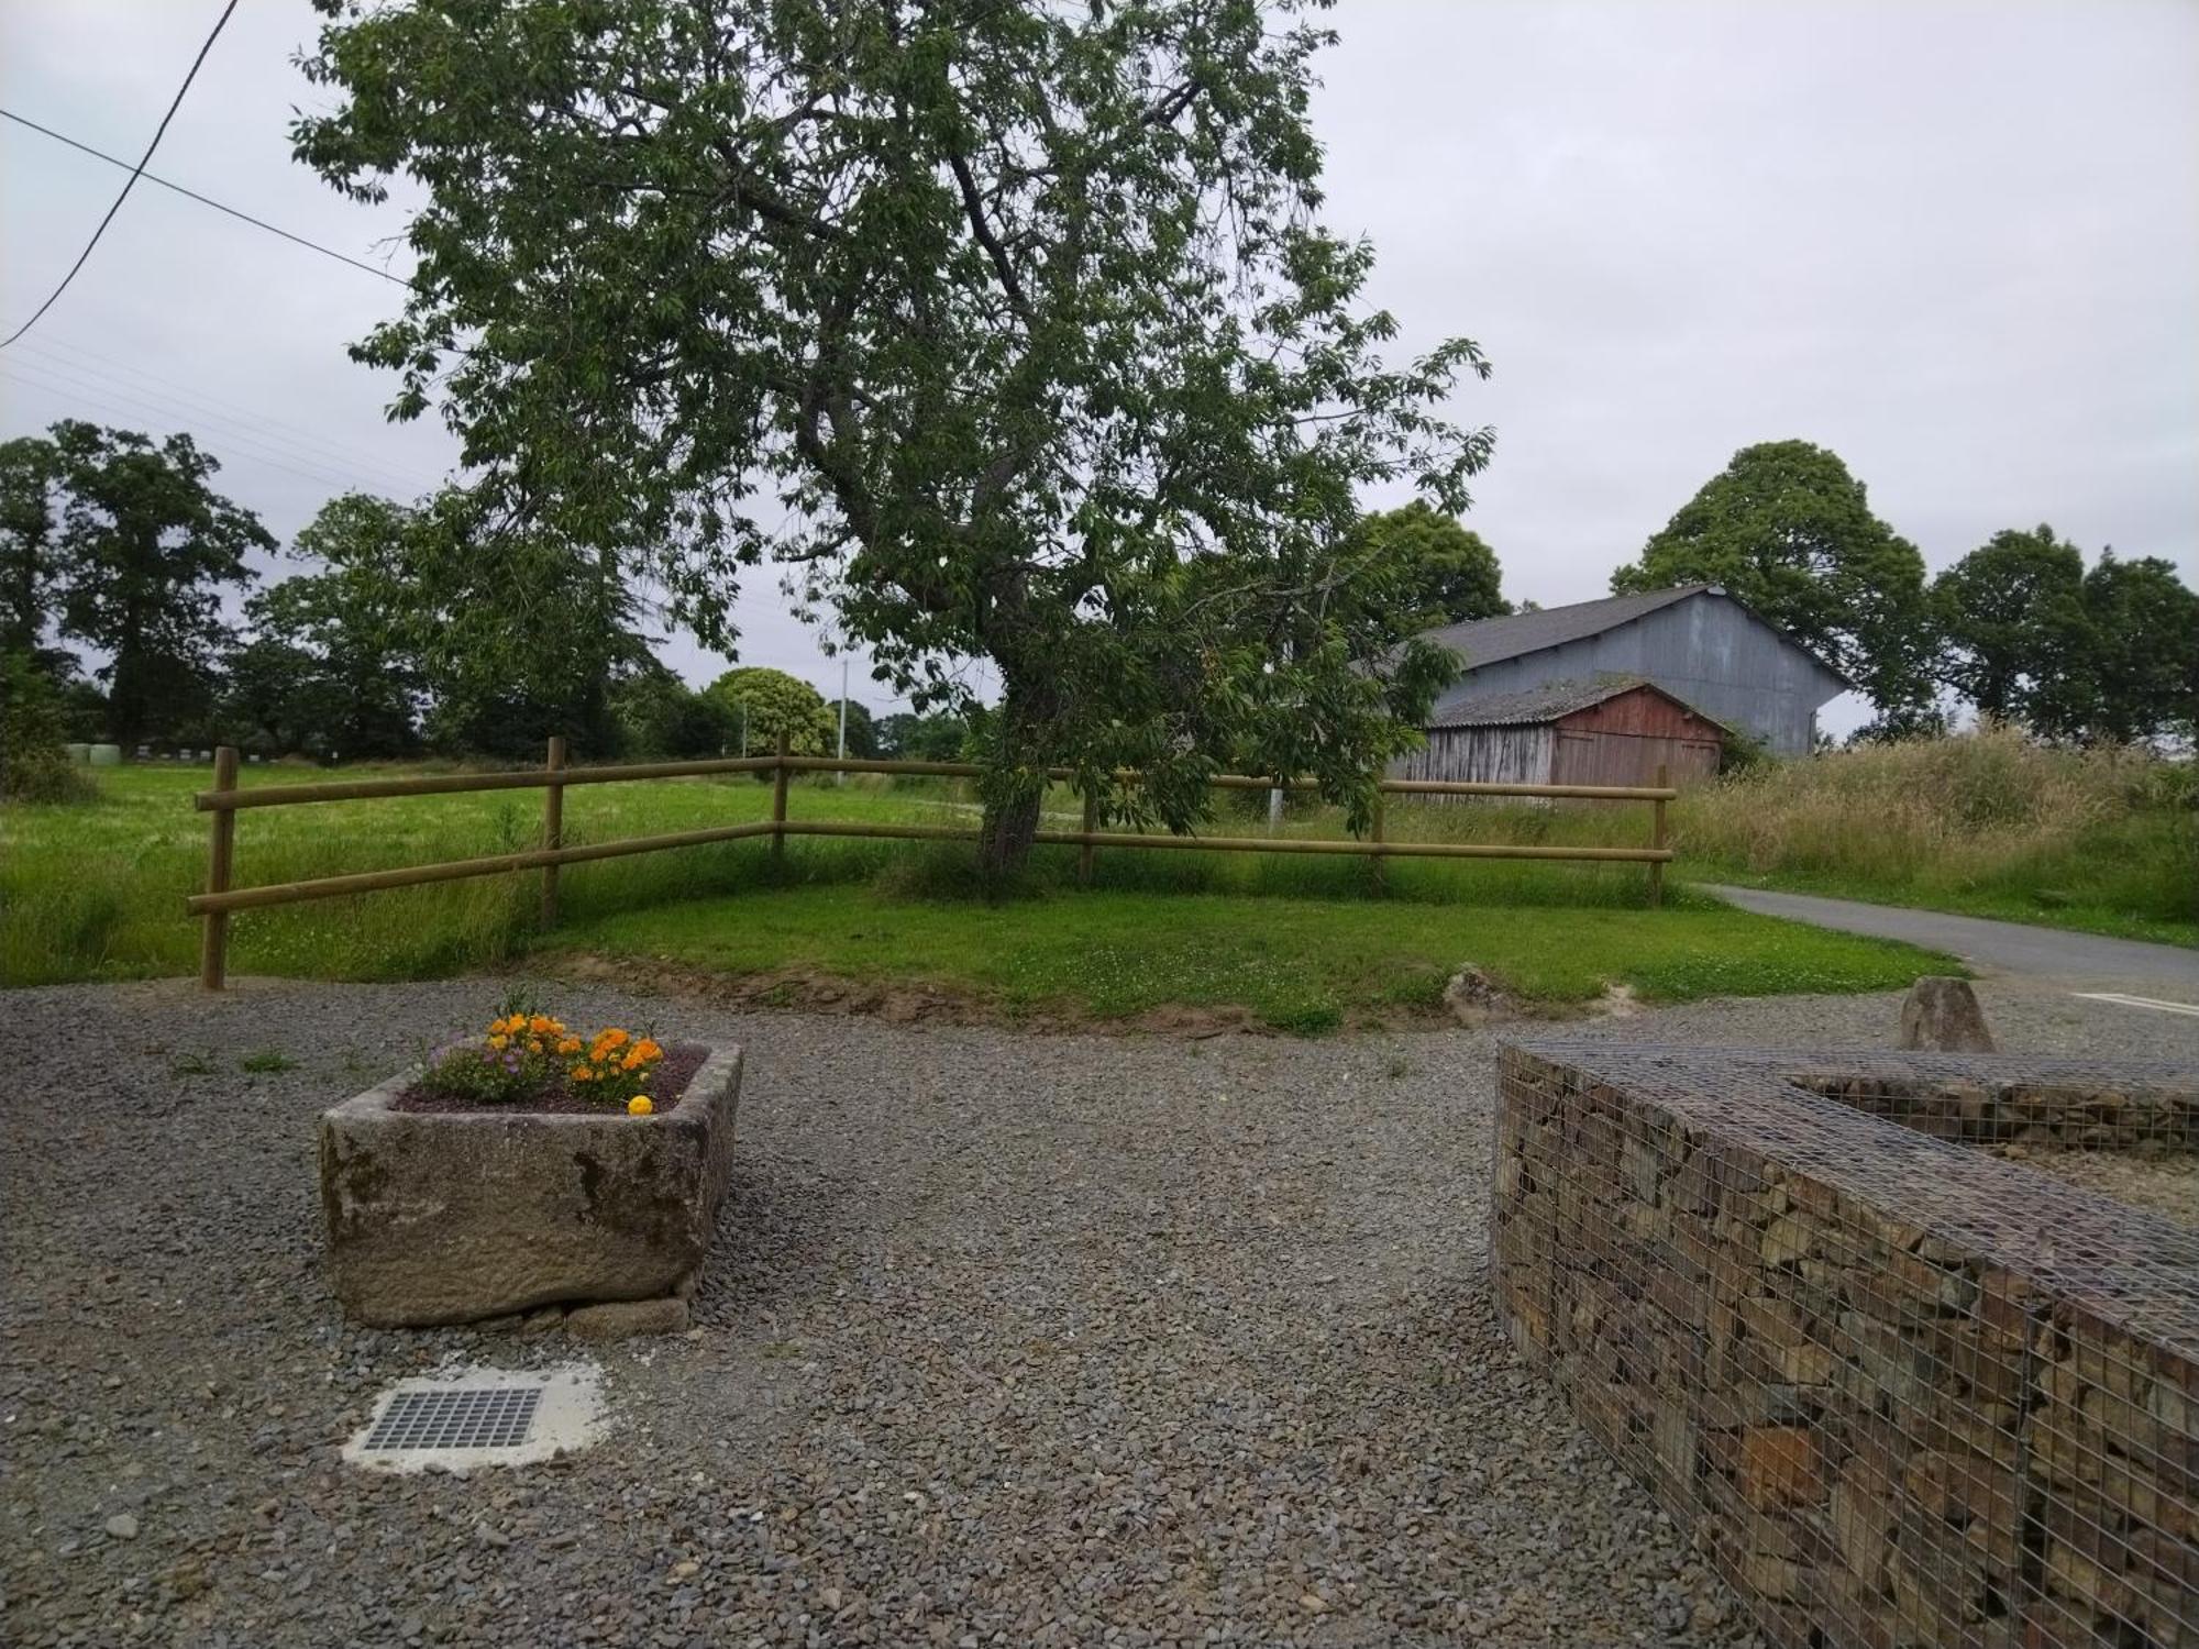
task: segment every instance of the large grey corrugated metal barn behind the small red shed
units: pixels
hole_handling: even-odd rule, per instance
[[[1678,699],[1746,730],[1781,756],[1810,754],[1816,708],[1845,688],[1841,677],[1724,596],[1693,596],[1647,618],[1502,660],[1462,675],[1436,699],[1436,719],[1484,693],[1520,693],[1544,682],[1645,675]]]

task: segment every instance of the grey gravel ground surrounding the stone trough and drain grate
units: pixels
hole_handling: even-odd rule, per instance
[[[345,1328],[317,1269],[314,1113],[499,996],[0,998],[0,1640],[1748,1640],[1498,1335],[1489,1033],[1014,1036],[563,989],[574,1020],[748,1047],[699,1326],[598,1352],[614,1429],[581,1456],[341,1467],[391,1379],[574,1354]],[[1986,996],[2010,1049],[2199,1064],[2195,1020]],[[1885,1047],[1893,1016],[1592,1033]]]

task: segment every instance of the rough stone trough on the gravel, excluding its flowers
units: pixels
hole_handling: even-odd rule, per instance
[[[651,1117],[391,1110],[405,1071],[321,1113],[328,1275],[345,1313],[424,1328],[684,1297],[732,1174],[741,1051]]]

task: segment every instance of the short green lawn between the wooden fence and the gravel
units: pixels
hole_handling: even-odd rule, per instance
[[[1132,1018],[1174,1005],[1245,1007],[1293,1031],[1434,1007],[1469,961],[1509,992],[1552,1005],[1592,1000],[1610,985],[1687,1000],[1896,989],[1920,972],[1959,972],[1909,945],[1709,901],[1566,910],[1115,888],[994,906],[844,884],[761,888],[600,917],[554,943],[723,974],[935,985],[1007,1011]]]

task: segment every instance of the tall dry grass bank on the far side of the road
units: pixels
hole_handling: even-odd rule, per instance
[[[1775,763],[1673,809],[1680,873],[2199,945],[2199,776],[2010,730]]]

